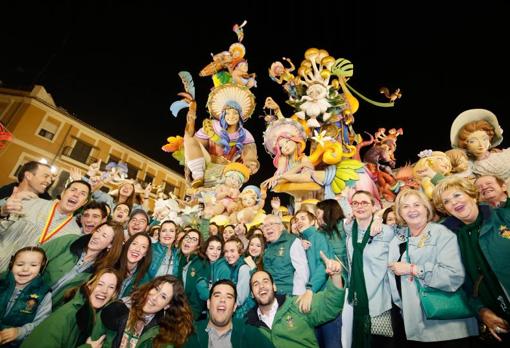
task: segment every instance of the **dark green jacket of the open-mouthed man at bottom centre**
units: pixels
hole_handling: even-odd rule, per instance
[[[208,320],[195,322],[195,333],[188,338],[185,348],[207,348],[209,346],[209,334],[207,331]],[[230,336],[232,348],[271,348],[271,341],[257,328],[247,325],[241,319],[232,320],[232,334]]]

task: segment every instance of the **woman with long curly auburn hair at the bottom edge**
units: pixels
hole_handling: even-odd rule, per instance
[[[193,331],[193,316],[182,283],[174,276],[157,277],[101,311],[90,346],[181,347]]]

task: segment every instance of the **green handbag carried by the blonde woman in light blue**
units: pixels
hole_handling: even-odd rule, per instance
[[[409,257],[409,238],[406,245],[407,261]],[[422,286],[417,277],[414,277],[418,296],[420,297],[421,308],[425,318],[434,320],[464,319],[472,317],[473,311],[468,304],[466,293],[462,288],[449,292],[436,288]]]

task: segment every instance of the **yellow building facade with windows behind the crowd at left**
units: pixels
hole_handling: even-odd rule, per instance
[[[16,181],[19,168],[31,160],[44,158],[56,167],[52,188],[56,192],[63,188],[72,168],[85,173],[98,160],[103,164],[122,160],[128,164],[129,178],[153,187],[163,185],[164,192],[177,197],[185,194],[182,175],[69,115],[42,86],[30,92],[0,88],[0,122],[13,135],[0,150],[0,186]],[[151,198],[153,206],[154,194]]]

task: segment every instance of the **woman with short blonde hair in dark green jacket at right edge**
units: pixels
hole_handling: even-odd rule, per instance
[[[508,343],[510,331],[510,211],[477,205],[469,180],[443,179],[434,189],[436,209],[447,213],[443,225],[456,233],[466,269],[471,307],[496,340]]]

